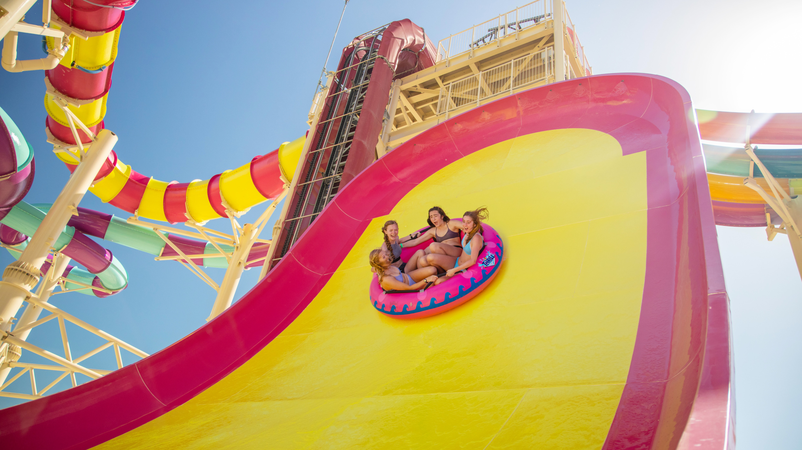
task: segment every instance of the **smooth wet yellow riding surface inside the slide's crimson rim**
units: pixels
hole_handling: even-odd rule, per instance
[[[367,253],[388,218],[410,233],[432,205],[456,217],[487,205],[507,259],[454,310],[388,318],[368,301]],[[507,140],[375,218],[247,363],[97,448],[601,448],[645,271],[646,152],[622,156],[613,137],[588,129]]]

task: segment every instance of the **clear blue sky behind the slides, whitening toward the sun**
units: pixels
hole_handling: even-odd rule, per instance
[[[119,158],[138,172],[168,181],[205,179],[306,131],[342,2],[232,5],[229,10],[220,2],[141,0],[127,14],[105,121],[119,135]],[[515,6],[351,0],[330,66],[354,35],[393,20],[410,18],[436,42]],[[567,9],[594,73],[664,75],[683,84],[695,106],[705,109],[802,110],[802,2],[569,0]],[[37,23],[40,10],[37,3],[26,20]],[[22,36],[19,58],[41,57],[38,39]],[[0,71],[0,86],[0,106],[37,156],[26,201],[53,201],[68,172],[45,142],[43,72]],[[128,217],[91,194],[82,206]],[[246,221],[258,213],[254,209]],[[215,226],[228,224],[219,220]],[[150,353],[205,323],[214,298],[208,286],[174,262],[106,245],[128,270],[128,289],[102,301],[58,296],[59,307]],[[796,448],[802,282],[787,238],[768,242],[762,229],[719,227],[719,245],[731,298],[739,444]],[[0,257],[2,265],[10,261],[7,253]],[[209,273],[218,280],[223,274]],[[240,293],[253,286],[257,270],[245,274]],[[77,329],[68,331],[74,354],[99,345]],[[57,326],[43,326],[30,337],[41,346],[56,339]],[[96,358],[94,367],[111,368],[110,351]],[[0,407],[14,403],[0,398]]]

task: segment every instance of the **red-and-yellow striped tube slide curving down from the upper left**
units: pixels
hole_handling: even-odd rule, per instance
[[[95,3],[128,7],[133,6],[135,1],[99,0]],[[47,71],[48,90],[67,97],[71,103],[79,104],[80,107],[69,106],[70,110],[91,132],[97,133],[103,128],[111,71],[125,12],[95,6],[83,0],[54,0],[53,17],[55,27],[70,26],[88,37],[83,40],[71,34],[70,51],[58,67]],[[49,38],[47,46],[54,47],[54,39]],[[67,116],[49,93],[45,95],[45,109],[47,133],[51,140],[63,145],[75,145],[75,136]],[[77,134],[83,143],[91,142],[83,131],[78,130]],[[305,140],[304,136],[284,143],[276,151],[256,156],[239,168],[219,173],[208,180],[190,183],[160,181],[144,176],[117,160],[116,153],[112,152],[90,190],[104,202],[156,221],[203,222],[229,217],[229,213],[245,211],[282,192],[284,182],[281,176],[292,180]],[[58,155],[71,171],[75,170],[77,160],[67,152],[59,152]],[[227,209],[229,213],[226,213]]]

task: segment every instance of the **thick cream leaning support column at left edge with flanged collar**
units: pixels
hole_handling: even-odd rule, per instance
[[[30,238],[30,243],[22,251],[18,261],[6,266],[0,282],[0,330],[11,329],[14,314],[17,314],[22,302],[30,298],[30,289],[36,286],[41,277],[39,269],[47,254],[84,194],[87,193],[87,189],[95,180],[116,142],[117,135],[114,133],[108,130],[99,132],[97,140],[88,148],[83,161],[75,168],[75,172],[59,193],[42,225],[39,225],[34,236]]]

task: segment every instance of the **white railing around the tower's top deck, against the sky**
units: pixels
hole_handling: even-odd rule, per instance
[[[553,0],[537,0],[527,3],[505,14],[499,14],[487,22],[472,26],[468,30],[452,34],[437,43],[437,60],[452,58],[466,51],[474,51],[496,39],[516,34],[520,30],[535,26],[552,17]]]

